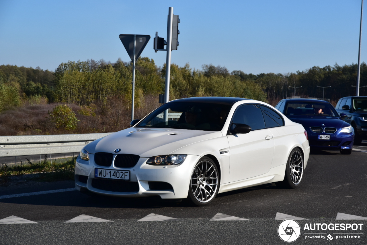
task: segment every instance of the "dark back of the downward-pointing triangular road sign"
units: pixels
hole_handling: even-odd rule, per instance
[[[130,56],[131,61],[134,61],[134,35],[120,34],[119,38],[124,45],[127,54]],[[149,39],[149,35],[135,35],[135,60],[138,60],[146,44],[149,42]]]

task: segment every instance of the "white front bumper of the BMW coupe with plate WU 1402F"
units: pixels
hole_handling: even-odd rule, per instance
[[[191,174],[200,156],[188,155],[183,163],[170,166],[145,164],[148,159],[141,157],[138,163],[131,168],[117,168],[113,164],[110,167],[98,166],[94,163],[94,154],[90,154],[89,161],[81,160],[80,156],[78,156],[75,164],[75,188],[79,191],[87,189],[90,192],[108,196],[132,198],[160,196],[162,199],[187,198]],[[94,168],[129,170],[130,181],[96,179],[94,177]],[[170,184],[172,189],[157,190],[149,188],[149,182],[158,181]],[[116,191],[118,189],[116,187],[108,188],[109,185],[113,184],[121,186],[123,191]]]

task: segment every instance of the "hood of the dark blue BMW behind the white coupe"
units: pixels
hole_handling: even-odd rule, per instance
[[[344,128],[350,124],[340,120],[339,117],[326,116],[287,116],[291,121],[302,124],[304,128],[309,127],[333,127]],[[325,126],[323,126],[324,124]]]

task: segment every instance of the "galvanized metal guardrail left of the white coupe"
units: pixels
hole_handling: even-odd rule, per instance
[[[80,152],[89,142],[109,134],[0,136],[0,157]]]

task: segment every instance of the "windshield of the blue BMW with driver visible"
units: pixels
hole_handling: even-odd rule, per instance
[[[308,116],[328,116],[338,117],[338,113],[334,107],[329,103],[317,102],[289,102],[287,104],[286,115],[308,115]]]

